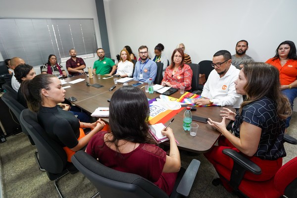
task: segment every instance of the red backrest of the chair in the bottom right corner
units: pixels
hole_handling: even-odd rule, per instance
[[[278,192],[288,198],[297,195],[297,157],[285,163],[275,174],[274,185]],[[293,196],[295,195],[295,196]]]

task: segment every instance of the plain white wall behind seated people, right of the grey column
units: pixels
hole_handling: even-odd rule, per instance
[[[256,61],[273,57],[278,45],[297,44],[297,0],[104,0],[111,56],[129,45],[137,54],[147,45],[150,56],[158,43],[171,57],[184,43],[192,62],[212,59],[237,41],[249,43]]]

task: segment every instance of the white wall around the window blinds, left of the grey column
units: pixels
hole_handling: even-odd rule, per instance
[[[94,19],[98,47],[101,38],[95,0],[0,0],[0,17],[3,18],[92,18]],[[3,58],[0,56],[0,60]],[[93,66],[95,58],[86,59]],[[63,66],[65,64],[62,63]],[[35,68],[39,74],[39,67]]]

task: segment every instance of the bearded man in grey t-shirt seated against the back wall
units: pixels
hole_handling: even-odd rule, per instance
[[[236,54],[232,55],[232,65],[237,69],[242,69],[244,63],[254,62],[252,57],[246,54],[248,43],[246,40],[237,42],[235,50]]]

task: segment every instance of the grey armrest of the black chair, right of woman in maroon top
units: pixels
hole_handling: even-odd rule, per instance
[[[185,174],[183,175],[176,192],[180,195],[188,197],[193,186],[194,180],[196,178],[198,168],[200,166],[200,161],[193,159],[188,166]]]

